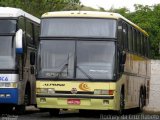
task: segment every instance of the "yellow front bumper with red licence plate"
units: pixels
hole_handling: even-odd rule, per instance
[[[90,98],[47,98],[37,97],[37,107],[40,109],[88,109],[88,110],[116,110],[114,99]],[[78,102],[72,102],[78,101]],[[71,102],[70,102],[71,101]]]

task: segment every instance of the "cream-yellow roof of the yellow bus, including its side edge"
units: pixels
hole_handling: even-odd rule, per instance
[[[112,12],[98,12],[98,11],[60,11],[60,12],[47,12],[42,15],[41,18],[52,18],[52,17],[85,17],[85,18],[112,18],[112,19],[123,19],[129,24],[133,25],[138,30],[142,31],[144,34],[147,34],[146,31],[141,29],[139,26],[126,19],[118,13]]]

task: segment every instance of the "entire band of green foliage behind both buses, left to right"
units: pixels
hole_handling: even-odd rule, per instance
[[[160,59],[160,4],[154,6],[136,4],[134,12],[130,12],[127,8],[105,10],[100,7],[97,10],[81,5],[79,0],[0,0],[0,6],[21,8],[37,17],[40,17],[45,12],[63,10],[111,11],[120,13],[148,32],[151,43],[151,56],[153,59]]]

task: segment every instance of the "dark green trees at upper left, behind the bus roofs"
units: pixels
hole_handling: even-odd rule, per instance
[[[0,6],[21,8],[40,17],[49,11],[77,10],[79,0],[0,0]]]

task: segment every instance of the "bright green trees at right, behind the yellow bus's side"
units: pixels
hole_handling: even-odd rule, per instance
[[[111,8],[108,11],[120,13],[144,29],[149,34],[151,58],[160,59],[160,4],[154,6],[135,4],[134,7],[134,12],[127,8]]]

